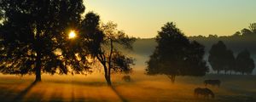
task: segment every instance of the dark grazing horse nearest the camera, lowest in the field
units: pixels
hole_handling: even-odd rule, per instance
[[[209,88],[195,88],[194,94],[196,97],[198,97],[199,95],[202,95],[202,96],[204,96],[204,98],[208,99],[209,95],[211,95],[212,99],[214,98],[214,94],[213,94],[212,90]]]

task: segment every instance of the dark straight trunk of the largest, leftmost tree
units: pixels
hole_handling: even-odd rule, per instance
[[[36,67],[35,67],[35,71],[36,71],[36,80],[35,82],[41,82],[41,55],[38,53],[37,54],[37,58],[36,58]]]

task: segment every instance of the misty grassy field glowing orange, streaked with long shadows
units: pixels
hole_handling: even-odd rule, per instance
[[[131,74],[131,82],[113,76],[108,87],[103,74],[88,76],[43,75],[43,82],[32,84],[33,76],[0,75],[0,101],[171,101],[171,102],[255,102],[256,76],[207,75],[177,77],[173,84],[166,76],[146,76],[143,71]],[[208,87],[215,99],[195,98],[194,89],[205,88],[203,80],[220,79],[220,88]]]

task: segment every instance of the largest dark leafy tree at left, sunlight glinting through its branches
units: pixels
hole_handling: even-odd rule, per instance
[[[77,72],[88,69],[67,51],[73,48],[68,47],[73,42],[67,41],[67,33],[79,26],[84,12],[82,0],[2,0],[0,9],[1,72],[35,73],[35,82],[40,82],[41,71],[67,74],[69,67]]]

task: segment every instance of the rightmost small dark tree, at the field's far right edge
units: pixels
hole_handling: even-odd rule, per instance
[[[253,72],[255,65],[247,49],[241,51],[236,57],[236,71],[250,74]]]

